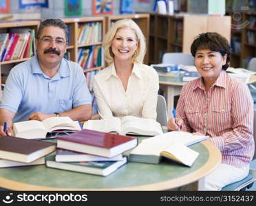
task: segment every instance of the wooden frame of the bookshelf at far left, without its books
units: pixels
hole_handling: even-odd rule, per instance
[[[16,29],[17,27],[19,27],[19,29],[21,30],[30,29],[36,32],[39,28],[39,24],[40,24],[40,21],[0,21],[0,33],[1,34],[8,33],[10,36],[10,32],[12,32],[12,29]],[[33,42],[31,43],[32,43],[32,46],[35,47],[34,43]],[[17,42],[17,45],[18,45],[18,42]],[[4,47],[5,45],[2,45],[2,46]],[[15,50],[17,51],[17,47],[14,47],[14,52]],[[32,51],[31,55],[32,56],[34,55],[34,51]],[[23,56],[21,56],[20,58],[17,58],[15,60],[11,59],[11,60],[0,61],[1,83],[4,83],[6,81],[6,77],[8,76],[9,71],[10,69],[12,69],[12,67],[28,59],[29,58],[23,58]],[[0,100],[1,100],[1,92],[0,92]]]

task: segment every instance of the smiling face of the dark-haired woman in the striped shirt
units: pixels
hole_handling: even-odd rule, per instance
[[[215,82],[220,76],[222,66],[226,64],[226,54],[201,49],[195,53],[195,67],[204,80]]]

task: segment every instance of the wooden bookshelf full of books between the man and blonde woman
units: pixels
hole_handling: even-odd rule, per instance
[[[78,62],[78,64],[81,65],[84,70],[85,76],[87,78],[87,86],[92,95],[92,119],[98,119],[99,116],[97,114],[98,111],[95,95],[92,91],[92,82],[94,75],[100,69],[105,67],[105,62],[103,60],[103,49],[100,49],[102,46],[103,37],[105,35],[105,17],[88,16],[85,18],[68,18],[62,20],[67,24],[69,30],[67,56],[70,60]],[[96,54],[97,60],[94,54]],[[96,64],[88,63],[95,61],[97,61]]]

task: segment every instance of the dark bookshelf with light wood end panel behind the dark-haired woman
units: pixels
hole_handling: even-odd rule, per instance
[[[162,62],[166,52],[190,53],[193,39],[202,32],[218,32],[231,39],[231,16],[151,13],[150,24],[149,65]]]

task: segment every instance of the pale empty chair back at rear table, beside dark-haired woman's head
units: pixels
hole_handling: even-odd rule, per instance
[[[178,65],[194,65],[194,58],[186,53],[164,53],[162,63],[173,63]]]

